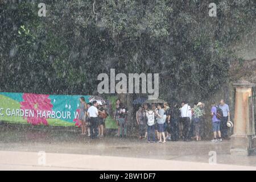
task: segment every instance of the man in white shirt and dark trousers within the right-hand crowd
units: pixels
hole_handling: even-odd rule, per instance
[[[191,107],[184,101],[181,104],[183,105],[180,109],[181,125],[183,125],[183,140],[188,142],[191,141],[191,138],[189,138],[189,127],[192,118]]]

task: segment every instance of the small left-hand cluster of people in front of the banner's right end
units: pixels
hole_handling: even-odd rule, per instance
[[[80,97],[79,121],[81,123],[81,135],[88,137],[104,137],[106,104],[99,105],[97,101],[86,103],[84,97]]]

